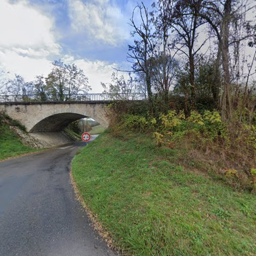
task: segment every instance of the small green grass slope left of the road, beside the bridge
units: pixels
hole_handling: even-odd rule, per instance
[[[34,151],[37,150],[24,145],[8,124],[0,124],[0,160]]]

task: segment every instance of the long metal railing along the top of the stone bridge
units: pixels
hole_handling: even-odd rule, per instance
[[[37,103],[37,102],[111,102],[115,100],[143,100],[141,93],[90,93],[90,94],[32,94],[0,95],[2,103]]]

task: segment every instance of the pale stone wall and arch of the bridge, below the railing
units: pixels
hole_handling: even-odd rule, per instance
[[[28,132],[56,132],[83,117],[91,117],[108,127],[104,106],[103,103],[0,104],[0,111],[20,121]]]

